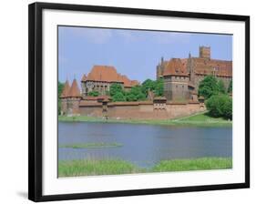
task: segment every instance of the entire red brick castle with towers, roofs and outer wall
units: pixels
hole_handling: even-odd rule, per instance
[[[138,85],[137,80],[118,74],[114,66],[93,66],[81,79],[81,91],[77,80],[71,87],[68,81],[61,94],[61,114],[118,118],[174,118],[204,111],[203,100],[198,98],[200,81],[208,75],[216,76],[226,88],[232,79],[232,61],[212,59],[210,47],[200,46],[199,57],[163,57],[157,66],[157,78],[163,78],[164,97],[148,97],[148,101],[111,102],[107,96],[111,84],[118,83],[125,90]],[[97,91],[99,97],[89,97]]]

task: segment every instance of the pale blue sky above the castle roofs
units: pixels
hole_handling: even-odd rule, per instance
[[[80,81],[92,66],[106,65],[143,82],[156,78],[161,56],[199,56],[199,46],[210,46],[211,58],[232,60],[228,35],[59,26],[58,77]]]

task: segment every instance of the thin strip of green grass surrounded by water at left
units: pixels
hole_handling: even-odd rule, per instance
[[[113,142],[113,143],[91,142],[91,143],[60,145],[59,148],[119,148],[122,146],[123,146],[122,144],[117,142]]]

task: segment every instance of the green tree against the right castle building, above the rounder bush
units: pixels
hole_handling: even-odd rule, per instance
[[[215,76],[205,76],[202,81],[200,81],[199,95],[203,96],[205,99],[210,98],[213,95],[218,94],[219,86],[218,80]]]

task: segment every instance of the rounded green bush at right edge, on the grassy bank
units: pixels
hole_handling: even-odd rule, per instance
[[[232,119],[232,99],[227,95],[213,95],[206,101],[211,117]]]

